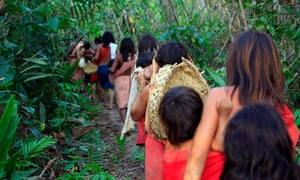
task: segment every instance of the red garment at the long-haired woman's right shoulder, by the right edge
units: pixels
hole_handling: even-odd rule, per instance
[[[299,130],[296,127],[295,117],[293,113],[291,112],[291,110],[288,108],[287,105],[284,105],[283,108],[277,105],[276,110],[277,112],[279,112],[281,118],[283,119],[283,122],[292,140],[293,147],[296,147],[297,141],[299,139]]]

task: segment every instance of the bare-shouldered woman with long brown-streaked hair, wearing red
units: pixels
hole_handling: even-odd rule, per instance
[[[241,33],[230,46],[226,74],[228,86],[214,88],[208,94],[185,170],[186,180],[219,179],[221,175],[227,121],[219,121],[216,102],[220,98],[233,104],[229,117],[245,105],[266,102],[276,107],[296,146],[299,132],[284,100],[284,77],[272,38],[258,31]]]

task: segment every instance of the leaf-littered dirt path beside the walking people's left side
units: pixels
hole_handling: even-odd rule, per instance
[[[101,102],[95,103],[101,104]],[[111,150],[103,155],[103,158],[107,158],[107,160],[101,166],[116,179],[144,180],[144,162],[140,158],[133,158],[136,131],[132,131],[126,137],[123,146],[124,153],[122,153],[122,145],[119,145],[116,140],[116,137],[120,136],[123,126],[119,110],[116,105],[112,110],[105,108],[103,104],[101,105],[103,107],[101,119],[97,124],[101,130],[101,139],[109,144]]]

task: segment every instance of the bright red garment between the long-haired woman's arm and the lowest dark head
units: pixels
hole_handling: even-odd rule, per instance
[[[201,180],[219,180],[224,167],[224,154],[217,151],[208,151]]]

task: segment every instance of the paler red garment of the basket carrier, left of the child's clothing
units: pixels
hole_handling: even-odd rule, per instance
[[[146,180],[162,180],[164,143],[146,135],[145,177]]]

